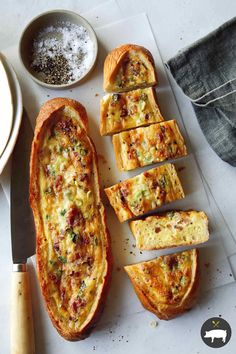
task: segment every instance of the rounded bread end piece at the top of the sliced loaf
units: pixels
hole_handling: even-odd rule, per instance
[[[104,91],[124,92],[157,84],[152,54],[144,47],[124,44],[104,62]]]

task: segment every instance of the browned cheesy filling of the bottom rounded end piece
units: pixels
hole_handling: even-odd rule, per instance
[[[161,312],[165,306],[181,306],[195,279],[196,257],[195,249],[188,250],[126,266],[125,270],[154,312],[156,308]]]

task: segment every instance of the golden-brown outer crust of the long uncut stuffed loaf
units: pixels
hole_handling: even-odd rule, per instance
[[[99,296],[96,298],[96,307],[93,309],[92,313],[89,313],[88,318],[80,326],[78,331],[73,331],[68,327],[61,324],[58,313],[52,310],[50,293],[48,293],[48,286],[45,284],[45,279],[43,279],[42,273],[45,271],[46,265],[44,264],[44,259],[42,255],[42,239],[45,238],[43,217],[40,211],[40,185],[39,185],[39,154],[42,148],[42,138],[47,131],[47,126],[54,120],[55,113],[63,108],[68,108],[71,112],[77,116],[78,124],[84,131],[83,136],[87,141],[89,146],[91,156],[92,156],[92,171],[94,174],[94,190],[96,191],[96,200],[99,203],[98,215],[100,217],[100,229],[102,230],[102,247],[104,250],[104,273],[102,273],[102,283],[100,284]],[[30,205],[34,215],[35,228],[36,228],[36,256],[37,256],[37,269],[39,283],[46,303],[46,308],[51,321],[59,334],[67,340],[80,340],[86,338],[94,325],[96,324],[99,316],[103,310],[104,302],[106,300],[106,295],[109,289],[110,279],[111,279],[111,269],[112,269],[112,254],[110,245],[110,236],[106,226],[106,215],[105,209],[101,202],[100,187],[99,187],[99,175],[97,168],[97,155],[95,147],[91,139],[87,136],[88,130],[88,118],[85,108],[74,100],[67,98],[55,98],[46,102],[37,117],[36,127],[34,133],[34,139],[32,142],[31,150],[31,160],[30,160]],[[49,260],[48,260],[49,261]],[[49,287],[50,290],[50,287]],[[66,290],[67,291],[67,290]],[[94,296],[95,301],[95,296]]]

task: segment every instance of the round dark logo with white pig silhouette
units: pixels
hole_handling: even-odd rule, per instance
[[[221,348],[231,338],[231,327],[221,317],[212,317],[205,321],[201,328],[203,342],[211,348]]]

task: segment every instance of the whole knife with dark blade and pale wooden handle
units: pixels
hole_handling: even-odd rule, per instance
[[[23,112],[11,169],[11,354],[34,354],[34,328],[27,259],[35,253],[35,231],[29,206],[29,160],[33,131]]]

